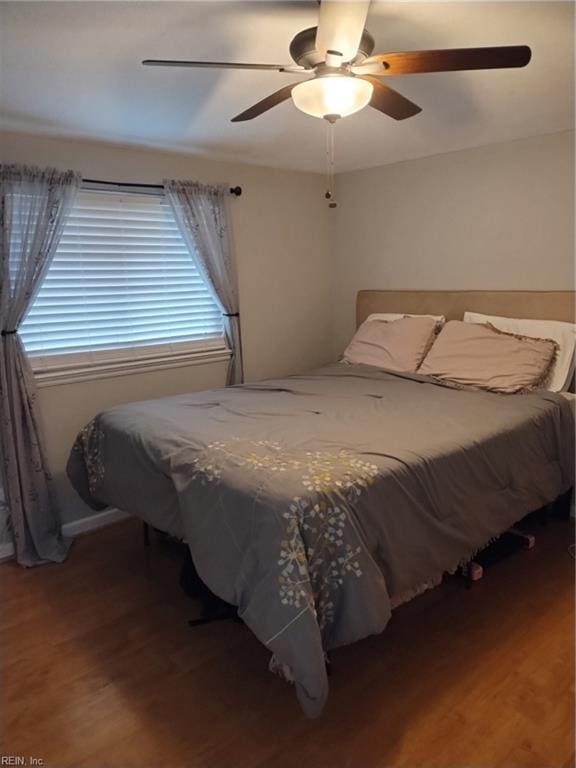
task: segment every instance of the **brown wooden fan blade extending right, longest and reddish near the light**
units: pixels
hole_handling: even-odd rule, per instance
[[[413,75],[466,69],[525,67],[532,57],[527,45],[494,48],[449,48],[440,51],[405,51],[370,56],[353,68],[359,75]]]

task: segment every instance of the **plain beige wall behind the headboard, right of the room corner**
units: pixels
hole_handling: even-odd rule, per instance
[[[337,192],[335,354],[361,288],[574,288],[573,132],[344,173]]]

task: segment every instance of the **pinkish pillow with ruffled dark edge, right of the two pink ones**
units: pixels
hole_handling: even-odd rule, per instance
[[[418,373],[489,392],[530,392],[542,387],[558,345],[499,331],[489,323],[446,323]]]

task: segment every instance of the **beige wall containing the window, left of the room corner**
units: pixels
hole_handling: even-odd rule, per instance
[[[246,376],[305,370],[331,357],[328,210],[316,174],[213,162],[190,155],[17,134],[0,135],[0,161],[72,168],[87,178],[158,183],[193,178],[240,184],[231,201]],[[224,384],[204,364],[40,389],[48,456],[65,521],[92,512],[64,475],[78,430],[112,405]]]

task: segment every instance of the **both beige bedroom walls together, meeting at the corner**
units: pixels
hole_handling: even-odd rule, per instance
[[[573,133],[556,134],[340,174],[336,211],[325,205],[319,175],[171,152],[0,134],[0,161],[117,181],[242,185],[231,209],[246,374],[256,380],[339,354],[361,288],[573,287],[573,142]],[[223,364],[203,364],[43,387],[64,520],[92,514],[64,466],[95,413],[223,382]]]

